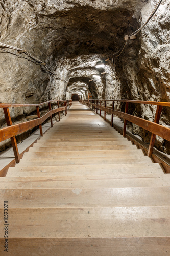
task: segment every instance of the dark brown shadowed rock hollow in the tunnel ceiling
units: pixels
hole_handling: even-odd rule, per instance
[[[78,6],[56,11],[50,16],[37,14],[37,28],[46,30],[51,36],[53,58],[108,54],[116,50],[120,38],[138,28],[136,18],[132,16],[133,12],[125,8],[102,11]]]

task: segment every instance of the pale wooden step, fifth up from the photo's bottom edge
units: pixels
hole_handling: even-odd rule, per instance
[[[53,162],[55,163],[55,162]],[[51,162],[52,164],[52,162]],[[28,166],[27,166],[28,165]],[[163,170],[161,169],[160,165],[155,163],[127,163],[125,164],[99,164],[99,165],[57,165],[53,166],[46,162],[46,166],[36,166],[34,164],[28,163],[26,165],[21,165],[21,163],[17,164],[15,168],[11,167],[8,170],[7,176],[28,176],[28,177],[36,177],[36,176],[74,176],[75,179],[77,176],[87,176],[92,177],[143,177],[143,175],[150,175],[152,174],[163,174]],[[122,176],[121,176],[122,175]],[[147,176],[147,177],[148,177]]]

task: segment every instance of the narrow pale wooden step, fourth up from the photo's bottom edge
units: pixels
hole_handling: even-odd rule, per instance
[[[170,187],[170,176],[143,178],[99,179],[98,177],[9,177],[1,179],[1,189],[56,189],[56,188],[126,188],[126,187]]]

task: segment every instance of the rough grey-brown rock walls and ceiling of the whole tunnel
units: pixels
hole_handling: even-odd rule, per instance
[[[123,53],[102,69],[95,64],[112,56],[124,36],[138,29],[150,16],[158,0],[0,0],[0,42],[26,49],[46,63],[65,81],[43,68],[0,48],[0,103],[40,103],[63,100],[78,93],[86,98],[170,101],[169,1],[137,35]],[[12,49],[3,48],[19,54]],[[101,75],[101,72],[107,72]],[[94,79],[92,75],[100,75]],[[90,81],[92,80],[92,81]],[[66,82],[67,81],[67,82]],[[14,122],[24,121],[33,109],[11,110]],[[155,108],[130,105],[129,111],[153,120]],[[163,109],[160,123],[170,125],[170,110]],[[0,110],[1,126],[5,125]],[[149,142],[150,134],[129,124],[135,134]],[[170,153],[167,141],[156,146]],[[2,144],[4,148],[4,143]]]

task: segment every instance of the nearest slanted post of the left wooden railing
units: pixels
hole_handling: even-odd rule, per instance
[[[11,120],[9,108],[3,108],[3,110],[4,110],[7,126],[11,126],[12,125],[12,120]],[[19,152],[18,152],[18,146],[17,146],[17,143],[16,143],[15,136],[11,137],[11,144],[12,144],[13,151],[14,151],[15,161],[16,161],[16,163],[19,163],[20,162]]]

